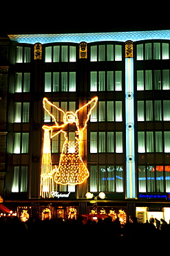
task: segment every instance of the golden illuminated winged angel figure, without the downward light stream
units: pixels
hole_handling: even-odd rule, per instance
[[[43,173],[43,176],[54,174],[54,181],[61,185],[77,185],[85,181],[89,176],[89,171],[81,158],[81,143],[83,143],[83,134],[87,127],[89,116],[92,109],[96,107],[98,98],[95,97],[80,109],[73,111],[63,111],[52,104],[47,98],[43,98],[43,107],[52,117],[54,124],[52,126],[43,125],[43,130],[50,132],[50,138],[63,134],[64,143],[61,151],[59,165],[54,167],[51,173]],[[49,106],[50,105],[50,106]],[[52,113],[49,109],[52,109]],[[63,116],[61,123],[56,122],[55,114],[60,113]],[[86,116],[84,118],[84,116]],[[75,130],[74,140],[69,139],[69,130]],[[49,169],[50,170],[50,169]]]

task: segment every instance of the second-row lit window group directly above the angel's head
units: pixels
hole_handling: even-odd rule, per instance
[[[45,72],[45,92],[76,91],[76,72]]]

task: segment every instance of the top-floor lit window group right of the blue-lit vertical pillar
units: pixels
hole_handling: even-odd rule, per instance
[[[147,42],[136,45],[136,60],[169,60],[169,43]]]

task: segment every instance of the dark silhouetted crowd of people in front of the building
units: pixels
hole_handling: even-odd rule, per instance
[[[122,244],[169,244],[170,245],[170,224],[162,220],[159,228],[153,223],[138,223],[136,217],[131,218],[125,225],[121,225],[119,219],[112,221],[110,218],[98,219],[98,221],[87,220],[83,217],[77,219],[28,219],[22,222],[17,217],[10,219],[0,218],[1,243],[19,241],[23,244],[49,245],[56,244],[67,250],[70,246],[75,248],[85,244],[102,244],[121,246]],[[97,247],[98,248],[98,247]]]

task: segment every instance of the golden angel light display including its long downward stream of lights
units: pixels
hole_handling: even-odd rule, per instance
[[[95,97],[87,102],[87,104],[83,105],[83,107],[77,109],[74,113],[73,111],[65,112],[52,104],[47,98],[43,98],[43,108],[52,117],[55,125],[43,125],[44,140],[41,166],[41,196],[51,196],[50,192],[52,191],[53,174],[54,182],[61,185],[78,185],[83,183],[89,177],[89,171],[81,158],[81,149],[83,147],[83,132],[87,127],[87,122],[92,113],[92,109],[96,107],[97,102],[98,98]],[[49,111],[49,106],[54,112],[51,113]],[[56,122],[56,118],[53,114],[56,111],[63,116],[63,122],[61,124]],[[85,122],[82,123],[84,113],[86,113],[86,118]],[[67,125],[69,124],[74,124],[76,128],[75,141],[73,144],[68,138]],[[65,142],[63,143],[61,150],[59,165],[55,165],[52,170],[50,139],[61,133],[64,135]],[[74,152],[70,150],[73,145]]]

